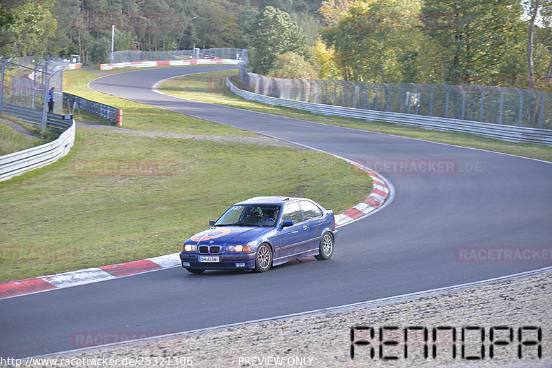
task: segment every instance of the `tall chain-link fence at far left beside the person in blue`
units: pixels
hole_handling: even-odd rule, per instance
[[[41,112],[42,128],[46,126],[48,91],[54,87],[55,114],[62,113],[63,70],[68,65],[58,57],[34,62],[33,57],[2,59],[0,113],[3,107],[25,108]],[[35,121],[36,122],[36,121]]]

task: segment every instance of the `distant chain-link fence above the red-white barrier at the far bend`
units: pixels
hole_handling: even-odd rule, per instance
[[[131,63],[137,61],[167,61],[190,59],[232,59],[248,62],[246,49],[242,48],[195,48],[177,51],[113,51],[109,53],[110,63]]]

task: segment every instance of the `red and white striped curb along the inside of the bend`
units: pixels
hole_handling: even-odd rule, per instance
[[[351,221],[355,221],[362,216],[366,216],[375,209],[382,207],[390,194],[386,181],[375,172],[349,161],[360,170],[368,173],[373,181],[373,189],[371,194],[362,203],[351,207],[346,211],[335,216],[335,225],[342,226]],[[98,281],[110,280],[112,278],[129,276],[133,274],[141,274],[142,272],[155,271],[167,267],[175,267],[180,265],[179,253],[168,254],[143,260],[133,260],[127,263],[117,263],[115,265],[107,265],[102,267],[93,267],[87,269],[79,269],[78,271],[63,272],[57,275],[48,275],[35,278],[26,278],[25,280],[10,281],[0,284],[0,298],[9,298],[22,294],[30,294],[35,292],[43,292],[50,289],[59,289],[62,287],[70,287],[84,285],[88,283],[96,283]]]

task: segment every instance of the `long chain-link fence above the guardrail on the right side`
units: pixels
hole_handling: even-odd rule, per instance
[[[552,130],[552,93],[489,85],[280,79],[239,66],[242,89],[265,96]]]

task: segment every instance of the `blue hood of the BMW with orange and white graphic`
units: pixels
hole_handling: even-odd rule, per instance
[[[218,226],[211,227],[189,238],[186,244],[234,245],[246,244],[253,239],[272,232],[275,227]]]

